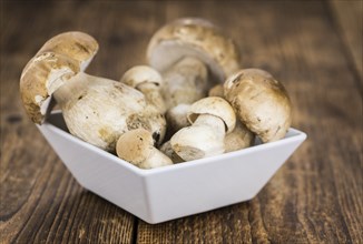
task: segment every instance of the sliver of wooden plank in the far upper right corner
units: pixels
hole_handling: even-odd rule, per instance
[[[343,37],[347,53],[353,59],[354,68],[357,70],[361,81],[363,79],[363,1],[333,0],[328,1],[334,14],[337,30]]]

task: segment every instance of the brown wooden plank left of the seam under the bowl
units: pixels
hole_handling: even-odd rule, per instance
[[[158,11],[149,2],[1,1],[0,243],[133,242],[136,218],[84,190],[26,118],[19,78],[46,40],[80,30],[101,47],[88,72],[119,79],[145,63]]]

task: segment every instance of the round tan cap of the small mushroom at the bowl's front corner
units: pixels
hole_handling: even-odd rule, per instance
[[[135,165],[148,159],[153,150],[153,135],[143,128],[121,134],[116,144],[117,155]]]

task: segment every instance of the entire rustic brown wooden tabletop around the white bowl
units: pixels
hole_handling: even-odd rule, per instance
[[[362,1],[1,1],[1,243],[363,243]],[[284,82],[307,141],[252,201],[149,225],[84,190],[27,119],[19,77],[50,37],[94,35],[88,72],[145,63],[177,17],[219,24]]]

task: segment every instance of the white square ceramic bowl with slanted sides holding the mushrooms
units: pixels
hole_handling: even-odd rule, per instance
[[[71,135],[60,112],[38,129],[79,184],[151,224],[253,199],[306,139],[290,129],[276,142],[143,170]]]

